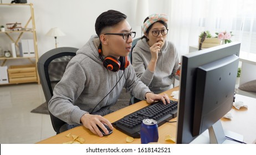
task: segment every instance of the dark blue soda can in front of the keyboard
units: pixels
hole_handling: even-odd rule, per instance
[[[142,144],[158,142],[157,121],[146,118],[141,123],[140,138]]]

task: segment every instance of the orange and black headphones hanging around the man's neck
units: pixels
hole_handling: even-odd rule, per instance
[[[103,59],[103,56],[101,55],[101,44],[99,45],[99,58],[101,61],[103,61],[103,65],[107,70],[110,71],[119,71],[119,70],[125,70],[127,66],[129,66],[130,62],[128,59],[128,56],[120,56],[120,58],[117,60],[114,56],[106,56],[105,59]]]

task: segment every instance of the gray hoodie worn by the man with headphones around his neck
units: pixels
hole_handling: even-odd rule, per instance
[[[85,113],[101,116],[109,113],[110,106],[116,103],[123,87],[140,100],[145,100],[146,92],[150,92],[136,77],[132,65],[124,71],[107,70],[99,58],[99,44],[98,36],[93,35],[76,52],[49,101],[49,111],[70,125],[80,124],[80,118]]]

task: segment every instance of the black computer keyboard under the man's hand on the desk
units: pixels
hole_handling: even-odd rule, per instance
[[[166,102],[167,103],[167,102]],[[170,104],[164,105],[162,101],[155,102],[149,106],[141,108],[120,120],[112,123],[112,125],[126,135],[134,138],[140,138],[140,127],[142,120],[151,118],[157,121],[158,127],[166,121],[177,117],[178,102],[170,100]]]

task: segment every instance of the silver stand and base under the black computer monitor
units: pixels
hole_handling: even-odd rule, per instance
[[[221,121],[217,121],[208,128],[208,130],[204,131],[201,135],[195,138],[191,143],[192,144],[241,144],[240,142],[235,142],[231,139],[227,139],[227,137],[233,138],[237,141],[243,142],[243,135],[239,135],[238,133],[232,131],[224,131]]]

